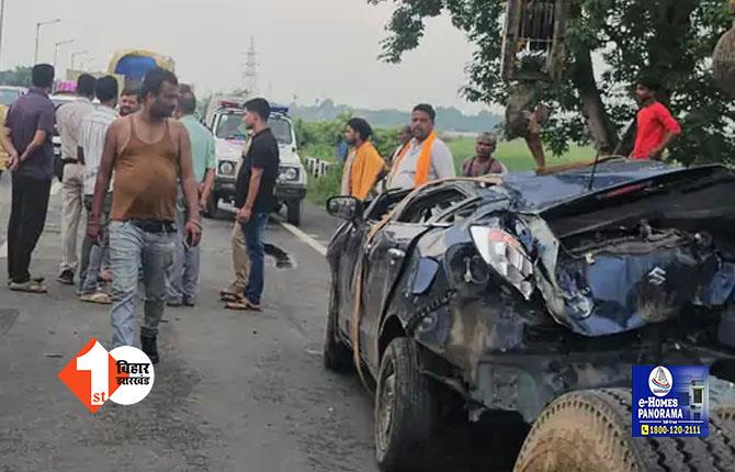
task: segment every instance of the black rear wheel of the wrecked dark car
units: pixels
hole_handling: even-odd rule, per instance
[[[375,392],[375,459],[383,472],[430,468],[437,425],[437,391],[420,372],[416,345],[396,338],[381,361]]]

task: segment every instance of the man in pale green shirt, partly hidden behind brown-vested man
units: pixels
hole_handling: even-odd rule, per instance
[[[199,186],[200,210],[206,207],[214,187],[215,141],[212,132],[196,120],[196,98],[191,89],[183,90],[179,97],[177,117],[184,125],[191,142],[192,165],[194,180]],[[169,269],[169,306],[194,306],[196,300],[196,283],[199,281],[200,248],[186,245],[184,223],[189,218],[186,201],[179,188],[177,198],[177,227],[179,234],[173,252],[173,265]]]

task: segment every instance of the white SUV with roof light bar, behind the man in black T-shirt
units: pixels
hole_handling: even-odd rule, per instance
[[[205,125],[215,137],[217,159],[214,190],[204,213],[208,217],[216,217],[220,202],[233,203],[235,200],[237,175],[250,139],[242,122],[244,103],[244,99],[223,98],[214,105],[210,104],[205,113]],[[280,209],[285,207],[286,221],[298,226],[303,200],[306,196],[307,176],[298,157],[296,134],[289,117],[289,109],[272,106],[269,124],[279,143],[281,158],[275,198]]]

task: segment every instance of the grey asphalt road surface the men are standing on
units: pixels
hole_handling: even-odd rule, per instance
[[[0,181],[0,247],[8,181]],[[90,338],[110,346],[109,312],[55,280],[59,207],[56,194],[32,262],[47,295],[7,290],[0,251],[0,471],[376,471],[370,395],[355,377],[321,368],[329,282],[317,249],[333,218],[306,205],[306,238],[269,224],[265,240],[279,258],[268,258],[260,314],[223,310],[233,223],[206,221],[199,306],[167,308],[151,393],[92,415],[56,375]],[[438,470],[504,470],[485,463],[498,432],[449,432],[470,449]]]

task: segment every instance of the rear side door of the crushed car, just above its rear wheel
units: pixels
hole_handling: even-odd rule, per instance
[[[378,366],[377,338],[384,310],[416,243],[432,229],[429,222],[442,209],[466,198],[454,188],[419,193],[396,209],[391,221],[363,246],[360,342],[368,364]]]

